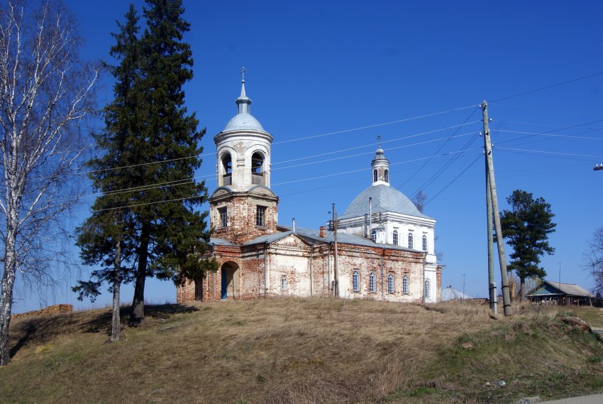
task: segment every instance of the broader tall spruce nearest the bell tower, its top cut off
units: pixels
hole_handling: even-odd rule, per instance
[[[179,271],[199,275],[214,264],[200,261],[207,249],[207,212],[197,207],[207,198],[204,182],[194,181],[201,165],[199,142],[205,130],[184,107],[182,86],[192,79],[192,52],[182,40],[189,23],[181,0],[146,0],[147,29],[140,40],[144,55],[138,91],[143,102],[139,136],[133,152],[139,165],[131,171],[136,203],[138,249],[131,324],[144,319],[145,279],[182,280]],[[159,162],[159,163],[157,163]],[[144,163],[144,164],[141,164]],[[160,187],[150,185],[162,185]]]

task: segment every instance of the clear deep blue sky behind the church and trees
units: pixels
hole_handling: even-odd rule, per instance
[[[84,58],[111,62],[111,32],[128,2],[66,3],[79,20]],[[436,250],[446,265],[442,285],[485,297],[478,106],[486,99],[500,209],[516,189],[550,203],[557,227],[555,253],[541,261],[547,278],[560,273],[563,283],[592,288],[584,253],[603,226],[603,170],[593,170],[603,162],[603,2],[184,0],[184,8],[194,58],[186,105],[206,128],[197,178],[210,194],[213,138],[236,114],[244,66],[251,114],[274,136],[280,224],[295,218],[316,229],[333,203],[343,214],[371,184],[381,136],[392,186],[428,197],[425,213],[437,220]],[[111,77],[99,95],[101,105],[111,101]],[[66,219],[81,223],[93,200]],[[70,292],[89,270],[42,293],[17,285],[14,312],[109,305],[108,294],[92,305]],[[123,302],[131,300],[131,286],[122,292]],[[174,302],[175,287],[151,280],[146,299]]]

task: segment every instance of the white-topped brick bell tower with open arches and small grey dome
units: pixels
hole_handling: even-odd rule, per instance
[[[214,137],[218,187],[209,198],[214,236],[234,244],[275,233],[279,201],[270,190],[272,135],[250,114],[245,71],[240,71],[237,114]]]

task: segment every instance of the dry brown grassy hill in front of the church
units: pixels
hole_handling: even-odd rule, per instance
[[[572,310],[603,325],[599,309]],[[113,344],[108,309],[18,318],[0,402],[516,403],[603,390],[603,344],[562,322],[566,307],[515,312],[494,320],[469,302],[336,299],[162,305]]]

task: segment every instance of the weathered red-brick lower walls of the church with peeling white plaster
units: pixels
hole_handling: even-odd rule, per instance
[[[264,250],[266,248],[266,251]],[[332,295],[334,251],[329,244],[311,245],[290,235],[267,246],[216,246],[219,269],[202,281],[202,300],[220,300],[222,271],[234,276],[228,285],[228,299],[253,299],[277,295]],[[383,260],[383,261],[382,261]],[[383,262],[383,263],[382,263]],[[265,273],[267,269],[267,273]],[[360,272],[360,291],[352,290],[353,270]],[[370,272],[374,271],[375,292],[370,292]],[[394,293],[387,293],[387,275],[394,275]],[[402,293],[402,277],[409,276],[409,293]],[[438,293],[441,269],[437,273]],[[287,288],[281,289],[281,278]],[[265,280],[267,279],[267,285]],[[424,286],[424,253],[380,247],[339,244],[338,279],[341,297],[421,302]],[[310,286],[311,285],[311,286]],[[194,300],[194,282],[177,290],[179,302]]]

